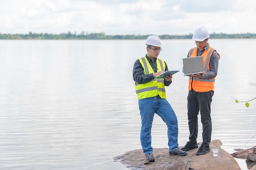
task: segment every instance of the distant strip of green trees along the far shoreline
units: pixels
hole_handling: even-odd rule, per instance
[[[105,33],[84,33],[72,34],[48,34],[48,33],[32,33],[28,34],[1,34],[2,40],[145,40],[148,35],[105,35]],[[159,35],[161,39],[191,39],[192,34],[188,35]],[[225,33],[213,33],[211,38],[256,38],[256,34],[242,33],[242,34],[225,34]]]

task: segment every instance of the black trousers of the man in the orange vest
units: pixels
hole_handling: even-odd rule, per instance
[[[188,119],[189,119],[189,141],[197,142],[198,138],[198,114],[200,111],[202,122],[202,145],[210,145],[211,142],[211,101],[214,91],[195,92],[189,91],[188,100]]]

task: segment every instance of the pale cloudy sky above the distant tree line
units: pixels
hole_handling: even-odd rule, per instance
[[[255,0],[0,0],[0,33],[256,33]]]

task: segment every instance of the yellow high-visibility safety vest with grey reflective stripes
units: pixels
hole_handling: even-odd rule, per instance
[[[144,74],[154,73],[153,68],[150,66],[146,57],[139,58],[139,62],[144,68]],[[164,60],[157,59],[157,69],[160,71],[165,70]],[[164,79],[153,79],[148,83],[138,84],[135,82],[135,90],[138,99],[145,99],[148,97],[155,97],[159,95],[161,98],[166,99],[166,92],[164,87]]]

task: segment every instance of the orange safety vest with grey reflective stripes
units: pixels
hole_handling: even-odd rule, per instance
[[[213,51],[216,51],[216,50],[213,49],[211,46],[209,46],[209,48],[207,50],[204,50],[204,52],[202,53],[202,56],[204,58],[204,72],[205,73],[208,73],[210,71],[209,63],[210,63],[210,59],[211,59],[211,55],[212,55]],[[197,47],[191,49],[189,51],[188,57],[196,57],[197,52],[198,52]],[[218,54],[218,56],[220,59],[219,54]],[[192,88],[194,91],[197,91],[197,92],[214,91],[214,82],[215,82],[215,77],[213,77],[211,79],[198,79],[195,77],[189,77],[189,91],[191,91]]]

